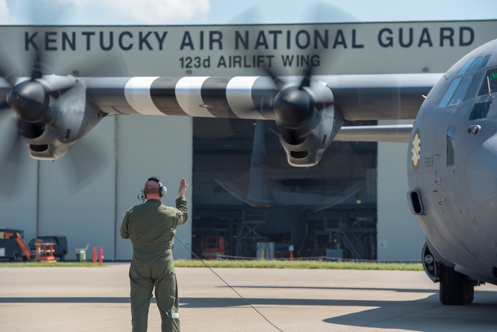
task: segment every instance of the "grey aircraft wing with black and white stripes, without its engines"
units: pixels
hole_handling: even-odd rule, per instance
[[[331,89],[331,102],[344,120],[392,120],[414,119],[422,95],[427,95],[442,75],[338,75],[314,76],[312,80]],[[281,80],[296,85],[302,79]],[[97,108],[117,114],[272,120],[272,104],[279,91],[273,79],[257,76],[87,78],[83,82]],[[308,90],[314,90],[312,84]]]

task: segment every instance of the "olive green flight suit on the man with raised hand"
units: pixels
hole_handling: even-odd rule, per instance
[[[130,239],[133,245],[129,268],[133,332],[147,331],[154,286],[162,331],[180,331],[179,298],[171,249],[176,227],[184,224],[187,218],[184,197],[176,199],[176,208],[150,199],[126,211],[120,232],[121,238]]]

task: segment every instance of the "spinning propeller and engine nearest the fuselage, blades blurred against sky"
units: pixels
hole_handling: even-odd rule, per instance
[[[309,22],[316,22],[317,19],[323,17],[323,13],[326,13],[327,22],[330,22],[330,19],[333,21],[357,20],[343,10],[327,3],[312,1],[310,4],[310,6],[307,5],[307,19],[304,18]],[[258,8],[260,10],[257,10]],[[263,17],[264,12],[271,11],[254,6],[248,9],[245,14],[235,17],[231,23],[258,22],[260,17]],[[316,29],[322,27],[323,25],[320,25]],[[248,28],[250,29],[250,27]],[[251,26],[253,30],[258,28],[257,25]],[[246,36],[260,36],[260,31],[246,33]],[[255,45],[254,51],[257,54],[253,58],[263,58],[267,55],[264,52],[267,52],[268,47]],[[280,143],[286,151],[288,163],[292,166],[302,167],[314,166],[319,163],[323,152],[330,145],[344,122],[342,114],[337,107],[334,107],[334,96],[331,89],[326,83],[319,81],[319,77],[314,76],[321,63],[326,63],[331,58],[331,53],[336,55],[341,52],[331,48],[331,44],[328,42],[320,44],[321,48],[318,48],[317,42],[307,45],[302,49],[302,52],[307,54],[295,54],[299,59],[310,60],[307,67],[304,61],[292,68],[290,68],[291,66],[286,67],[286,65],[279,67],[281,64],[278,64],[277,61],[273,61],[272,66],[268,66],[268,63],[259,66],[264,72],[263,76],[269,76],[274,82],[275,92],[266,91],[261,104],[255,105],[261,108],[262,114],[268,110],[274,112],[276,129],[272,131],[279,136]],[[319,63],[313,59],[317,59]],[[333,63],[339,63],[336,57],[333,57]],[[300,70],[303,75],[282,76],[283,73],[288,74],[289,71],[295,69]],[[295,73],[292,72],[291,75],[295,75]],[[270,98],[269,102],[267,98]]]

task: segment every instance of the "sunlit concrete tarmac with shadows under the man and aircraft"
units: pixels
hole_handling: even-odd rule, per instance
[[[0,331],[131,331],[129,263],[0,268]],[[497,287],[442,306],[419,271],[177,268],[183,332],[497,331]],[[149,331],[160,331],[155,302]]]

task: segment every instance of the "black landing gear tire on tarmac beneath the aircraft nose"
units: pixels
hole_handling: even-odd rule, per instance
[[[474,299],[475,288],[469,277],[452,267],[440,265],[440,302],[449,306],[462,306]]]

